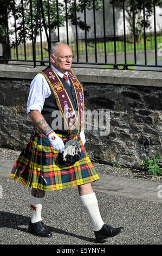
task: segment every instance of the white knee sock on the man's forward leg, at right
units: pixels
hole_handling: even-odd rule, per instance
[[[87,210],[88,215],[92,220],[94,230],[100,230],[104,222],[102,221],[100,215],[98,200],[96,199],[95,193],[80,196],[80,200],[83,206],[85,206],[85,209]]]

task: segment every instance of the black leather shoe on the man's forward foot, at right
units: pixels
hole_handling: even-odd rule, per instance
[[[112,237],[115,235],[118,235],[121,231],[123,231],[124,228],[113,228],[110,225],[103,224],[102,228],[98,231],[94,231],[94,235],[96,240],[102,241],[103,239],[106,239],[107,237]]]

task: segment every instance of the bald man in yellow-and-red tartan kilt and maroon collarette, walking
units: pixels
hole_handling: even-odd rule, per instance
[[[57,42],[50,53],[51,66],[38,72],[30,84],[27,114],[35,126],[12,168],[10,178],[32,188],[32,214],[28,229],[31,234],[52,236],[41,218],[45,192],[78,186],[80,200],[92,220],[95,237],[101,241],[119,234],[123,228],[113,228],[103,222],[91,186],[99,176],[84,147],[84,95],[82,84],[70,69],[72,50],[68,45]],[[80,158],[67,164],[61,156],[70,139],[79,143]]]

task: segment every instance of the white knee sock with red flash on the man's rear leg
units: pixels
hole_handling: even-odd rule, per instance
[[[37,198],[32,196],[32,194],[30,195],[30,206],[32,209],[31,223],[42,221],[41,210],[42,210],[43,202],[44,202],[44,197]]]

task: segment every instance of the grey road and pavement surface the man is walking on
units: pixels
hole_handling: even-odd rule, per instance
[[[77,187],[46,192],[42,219],[53,237],[29,234],[31,190],[9,179],[14,162],[1,159],[1,245],[101,245],[96,243]],[[160,245],[162,184],[108,174],[99,176],[100,180],[93,182],[92,186],[103,221],[114,227],[125,228],[118,236],[106,239],[102,246]]]

